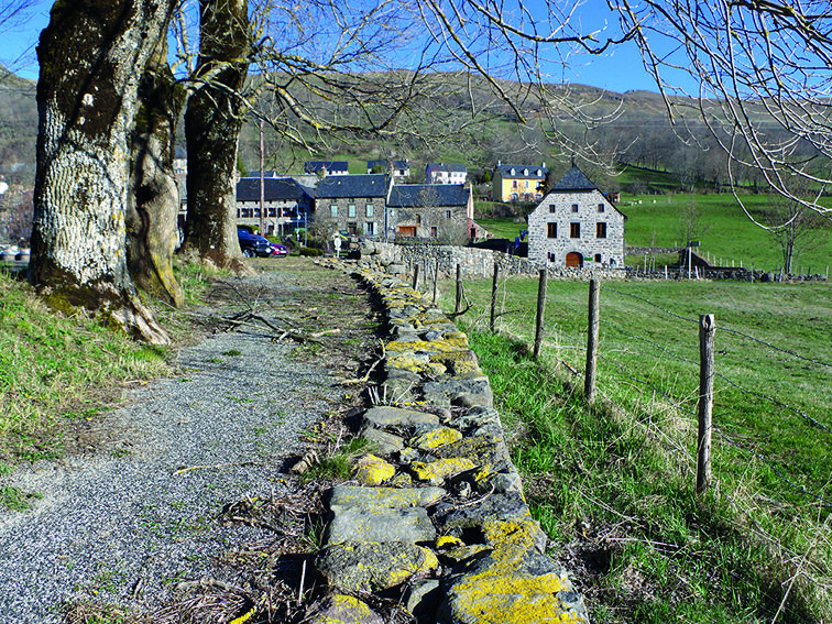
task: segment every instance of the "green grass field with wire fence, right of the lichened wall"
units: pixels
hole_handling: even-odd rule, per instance
[[[615,543],[622,548],[606,544],[615,573],[593,590],[600,622],[829,620],[830,284],[604,283],[599,390],[618,406],[605,413],[576,407],[578,396],[555,372],[581,387],[568,371],[584,368],[585,283],[549,283],[544,364],[551,373],[543,375],[523,349],[484,330],[490,281],[467,282],[466,293],[473,307],[460,325],[501,414],[527,436],[514,453],[535,514],[560,545],[582,523],[623,540]],[[532,343],[536,293],[536,280],[502,283],[504,336]],[[702,500],[692,494],[700,314],[714,314],[718,325],[715,486]],[[681,593],[644,598],[633,611],[623,595],[636,572],[654,593],[672,595],[668,583]],[[780,602],[787,609],[775,616]]]

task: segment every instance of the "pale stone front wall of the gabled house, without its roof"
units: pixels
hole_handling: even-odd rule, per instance
[[[578,206],[578,211],[572,210]],[[603,211],[601,208],[603,207]],[[557,223],[557,237],[548,237],[548,223]],[[580,223],[580,238],[570,237],[570,225]],[[596,225],[606,223],[606,237],[596,238]],[[584,266],[624,266],[624,216],[599,191],[550,193],[528,216],[528,258],[566,265],[568,253],[584,258]],[[601,261],[594,259],[600,254]]]

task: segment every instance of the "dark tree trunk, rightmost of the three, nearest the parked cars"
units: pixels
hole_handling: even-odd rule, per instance
[[[245,269],[237,240],[237,143],[251,48],[248,3],[199,2],[199,61],[185,113],[188,218],[185,244],[204,260]]]

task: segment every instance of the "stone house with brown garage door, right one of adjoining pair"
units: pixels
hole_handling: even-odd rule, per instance
[[[473,194],[461,184],[395,185],[387,198],[387,211],[396,237],[462,243],[477,229]]]

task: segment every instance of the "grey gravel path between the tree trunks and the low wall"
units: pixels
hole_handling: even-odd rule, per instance
[[[253,280],[283,297],[298,289],[285,272]],[[216,515],[245,495],[291,493],[285,459],[337,399],[330,372],[272,338],[247,326],[184,349],[180,376],[101,416],[118,445],[4,478],[43,499],[0,512],[0,622],[58,622],[73,600],[154,606],[176,583],[210,576],[217,556],[263,537]]]

